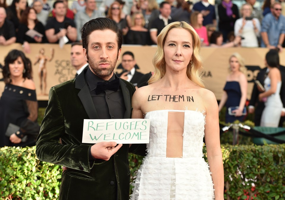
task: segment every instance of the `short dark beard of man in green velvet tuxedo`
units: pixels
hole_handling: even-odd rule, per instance
[[[118,60],[118,56],[119,56],[119,52],[117,54],[117,58],[115,58],[114,60],[100,60],[99,62],[95,62],[94,59],[90,59],[90,57],[87,54],[87,59],[88,59],[88,64],[91,68],[91,71],[97,75],[98,77],[105,79],[108,78],[110,75],[113,74],[113,71],[115,69],[117,60]],[[99,69],[99,64],[101,63],[109,63],[110,67],[106,68],[106,69]]]

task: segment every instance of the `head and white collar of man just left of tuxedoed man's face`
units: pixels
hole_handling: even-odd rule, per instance
[[[88,67],[88,63],[86,62],[83,54],[82,43],[74,42],[71,44],[70,59],[72,66],[76,69],[76,78],[77,75],[79,75],[85,68]]]

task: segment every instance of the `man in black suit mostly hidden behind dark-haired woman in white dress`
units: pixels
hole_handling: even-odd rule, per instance
[[[270,51],[276,51],[276,50],[270,50]],[[282,85],[281,85],[281,90],[280,90],[280,97],[283,103],[283,109],[281,113],[281,118],[279,122],[279,127],[282,127],[283,122],[285,121],[285,67],[280,65],[279,70],[281,72],[281,80],[282,80]],[[264,85],[264,79],[268,73],[267,67],[263,68],[260,70],[260,72],[257,74],[256,80],[258,80],[262,85]],[[254,123],[255,126],[260,126],[260,120],[261,120],[261,115],[262,111],[265,107],[264,102],[260,102],[258,99],[258,95],[261,92],[257,88],[257,84],[254,84],[252,93],[251,93],[251,100],[249,102],[248,106],[248,112],[249,113],[254,113]]]

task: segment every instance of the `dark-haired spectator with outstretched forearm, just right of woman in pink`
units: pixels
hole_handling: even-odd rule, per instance
[[[239,45],[240,40],[241,37],[237,36],[235,37],[234,41],[223,44],[223,33],[219,31],[214,31],[210,37],[210,47],[236,47]]]

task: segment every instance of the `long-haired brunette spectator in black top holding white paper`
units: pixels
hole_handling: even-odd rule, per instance
[[[29,30],[35,30],[42,35],[35,35],[33,38],[26,35]],[[23,44],[24,52],[30,53],[29,43],[45,43],[45,27],[37,20],[37,13],[34,8],[27,7],[22,13],[21,23],[17,34],[17,42]]]

